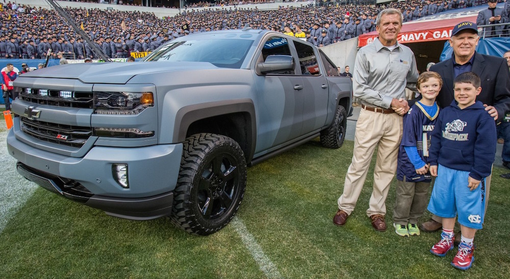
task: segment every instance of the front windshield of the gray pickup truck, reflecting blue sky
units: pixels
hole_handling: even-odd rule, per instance
[[[209,39],[169,42],[144,61],[209,62],[221,68],[240,68],[253,41]]]

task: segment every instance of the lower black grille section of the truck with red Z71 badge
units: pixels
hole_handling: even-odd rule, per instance
[[[20,121],[23,132],[50,143],[80,148],[92,135],[90,127],[49,123],[26,117],[20,117]]]

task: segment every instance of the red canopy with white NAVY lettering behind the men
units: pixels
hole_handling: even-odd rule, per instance
[[[462,21],[476,22],[476,15],[404,23],[400,34],[398,34],[398,42],[417,43],[448,40],[453,26]],[[372,43],[377,36],[376,31],[359,36],[358,47]]]

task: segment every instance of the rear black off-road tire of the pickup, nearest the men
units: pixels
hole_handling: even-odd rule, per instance
[[[320,132],[320,143],[327,148],[340,148],[344,143],[347,129],[347,111],[341,105],[337,107],[331,126]]]

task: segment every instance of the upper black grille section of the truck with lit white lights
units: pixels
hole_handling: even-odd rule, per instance
[[[19,95],[23,101],[62,107],[92,108],[92,92],[74,92],[23,88]]]

